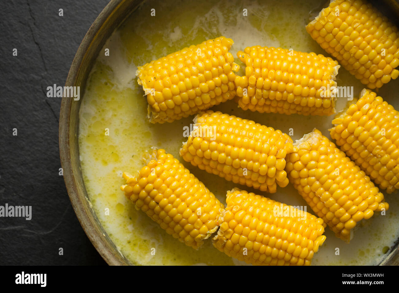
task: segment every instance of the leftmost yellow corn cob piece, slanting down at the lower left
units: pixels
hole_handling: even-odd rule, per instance
[[[137,176],[123,173],[120,188],[168,234],[198,249],[219,227],[223,204],[164,149],[154,150]]]

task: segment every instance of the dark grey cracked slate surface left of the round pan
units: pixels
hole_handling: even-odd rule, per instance
[[[65,84],[81,40],[108,2],[0,2],[0,206],[32,206],[32,220],[0,217],[0,265],[105,264],[58,175],[61,98],[45,93]]]

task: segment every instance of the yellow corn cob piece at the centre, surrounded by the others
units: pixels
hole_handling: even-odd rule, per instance
[[[251,120],[208,110],[194,118],[180,155],[199,169],[228,181],[275,193],[288,184],[285,156],[291,138]],[[210,135],[209,135],[210,134]]]

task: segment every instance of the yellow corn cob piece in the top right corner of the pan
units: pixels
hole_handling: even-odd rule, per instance
[[[366,1],[331,1],[306,30],[371,89],[399,75],[398,28]]]

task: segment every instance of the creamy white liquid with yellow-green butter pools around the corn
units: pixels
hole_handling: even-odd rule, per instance
[[[100,52],[85,88],[79,112],[79,151],[82,173],[89,200],[105,232],[132,264],[144,265],[233,265],[245,264],[213,248],[211,240],[198,251],[166,234],[144,212],[137,211],[124,197],[120,185],[122,172],[140,169],[142,155],[152,146],[164,148],[180,161],[179,149],[183,127],[192,118],[173,123],[150,124],[147,101],[135,78],[137,66],[192,44],[224,35],[235,42],[231,53],[236,57],[247,46],[264,45],[293,48],[297,51],[327,55],[306,33],[310,12],[322,8],[320,1],[146,1],[117,29]],[[155,9],[155,16],[151,16]],[[243,16],[243,10],[247,16]],[[105,50],[109,49],[109,56]],[[243,74],[244,66],[239,74]],[[379,90],[387,102],[399,108],[398,82],[391,81]],[[353,86],[354,97],[363,88],[345,69],[337,76],[339,86]],[[346,105],[339,98],[336,110]],[[330,138],[329,117],[261,114],[243,111],[229,101],[212,108],[290,132],[297,140],[318,128]],[[237,185],[184,162],[223,203],[227,190]],[[298,192],[288,185],[277,193],[254,191],[288,205],[305,205]],[[339,240],[326,228],[326,242],[314,255],[314,265],[375,265],[383,260],[399,236],[397,195],[385,197],[390,205],[386,215],[376,213],[363,221],[350,244]],[[312,213],[310,207],[307,211]],[[339,255],[336,255],[339,248]],[[155,253],[154,253],[155,252]]]

